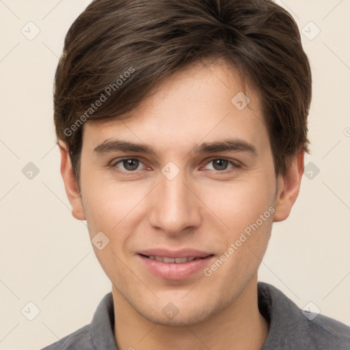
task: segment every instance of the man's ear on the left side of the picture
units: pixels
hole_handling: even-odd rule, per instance
[[[61,152],[61,174],[64,181],[67,197],[72,206],[72,215],[75,219],[85,220],[81,194],[77,187],[77,180],[72,170],[72,163],[68,152],[68,146],[65,142],[59,140],[59,151]]]

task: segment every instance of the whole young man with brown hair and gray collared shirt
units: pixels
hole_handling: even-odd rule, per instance
[[[93,1],[66,36],[55,127],[112,291],[45,349],[350,349],[349,327],[257,282],[299,193],[310,99],[272,1]]]

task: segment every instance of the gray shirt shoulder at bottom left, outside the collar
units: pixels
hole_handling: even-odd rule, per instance
[[[85,325],[72,334],[57,340],[42,350],[95,350],[90,336],[90,325]]]

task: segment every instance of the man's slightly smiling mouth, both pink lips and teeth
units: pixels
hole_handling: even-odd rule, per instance
[[[157,250],[139,252],[137,256],[152,275],[163,280],[185,280],[204,271],[215,255],[193,250]]]

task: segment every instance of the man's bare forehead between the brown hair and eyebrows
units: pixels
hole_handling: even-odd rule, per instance
[[[128,117],[124,119],[124,117]],[[245,139],[256,148],[269,141],[260,97],[226,62],[196,64],[163,79],[123,120],[89,120],[83,148],[107,139],[169,148],[193,148],[200,141]]]

